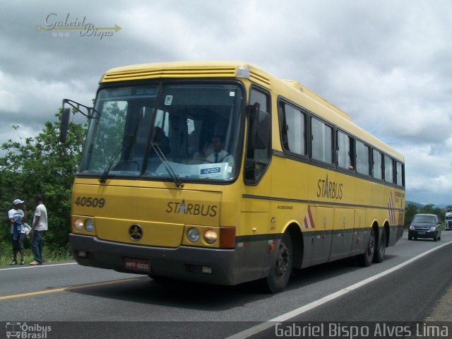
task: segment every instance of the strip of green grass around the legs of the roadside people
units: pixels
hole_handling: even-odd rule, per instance
[[[32,251],[30,249],[30,240],[25,239],[25,264],[31,263],[34,258]],[[44,263],[54,262],[54,261],[68,261],[72,260],[71,252],[69,248],[66,247],[54,247],[49,246],[44,243],[42,249],[42,257],[44,258]],[[18,261],[20,260],[20,254],[17,255]],[[11,242],[1,242],[0,243],[0,266],[8,266],[13,260],[13,247]]]

